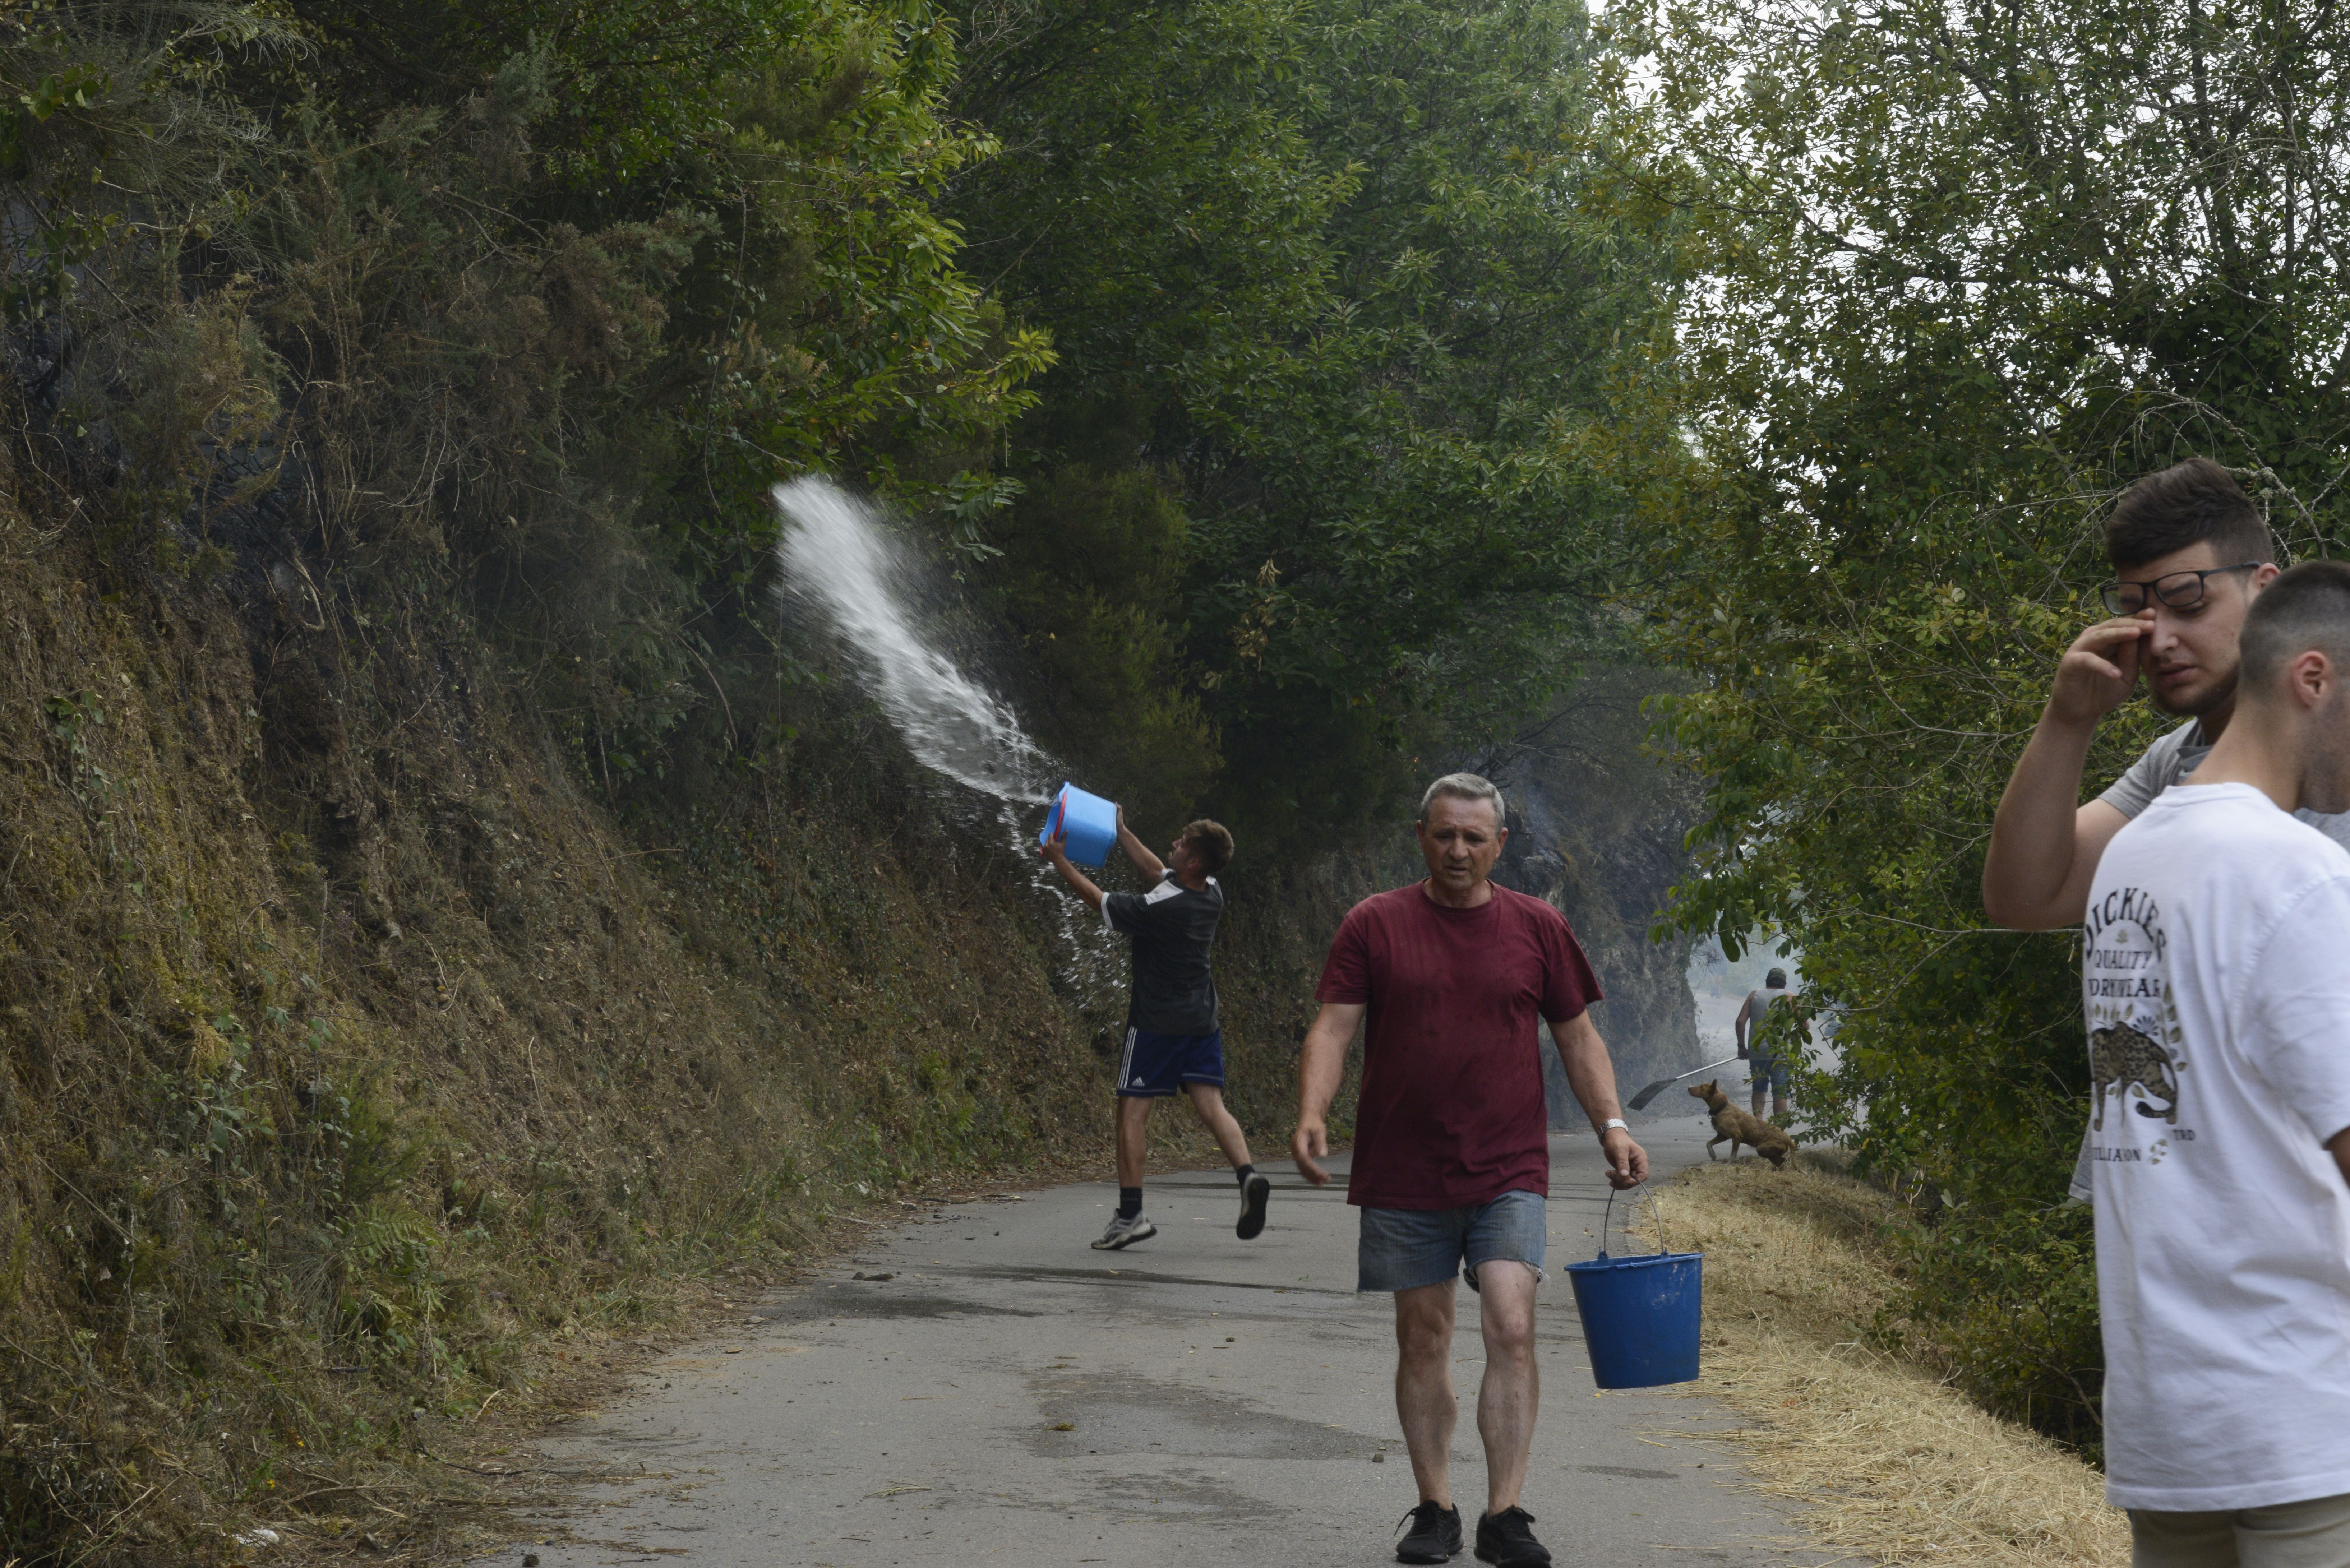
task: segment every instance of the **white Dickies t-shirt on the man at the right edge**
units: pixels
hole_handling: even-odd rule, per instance
[[[2106,1497],[2350,1493],[2350,851],[2251,785],[2164,790],[2082,926]]]

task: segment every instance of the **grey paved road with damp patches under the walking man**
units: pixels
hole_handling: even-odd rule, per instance
[[[1659,1171],[1704,1159],[1701,1121],[1643,1128]],[[921,1208],[841,1267],[757,1302],[740,1333],[656,1363],[548,1443],[590,1488],[531,1542],[479,1559],[548,1568],[884,1563],[1394,1561],[1417,1500],[1396,1434],[1391,1307],[1354,1293],[1354,1215],[1332,1185],[1276,1178],[1271,1225],[1231,1234],[1222,1171],[1149,1190],[1159,1237],[1088,1241],[1109,1185]],[[1589,1135],[1553,1143],[1542,1427],[1525,1502],[1563,1563],[1817,1563],[1720,1450],[1652,1436],[1718,1420],[1657,1394],[1593,1394],[1556,1265],[1596,1251]],[[886,1279],[855,1279],[855,1274]],[[1483,1505],[1462,1293],[1455,1486]],[[1384,1455],[1384,1460],[1379,1458]],[[538,1544],[536,1537],[548,1537]],[[1469,1563],[1469,1556],[1459,1559]]]

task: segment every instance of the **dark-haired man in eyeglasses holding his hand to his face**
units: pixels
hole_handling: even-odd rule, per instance
[[[2235,715],[2237,632],[2277,576],[2268,520],[2211,458],[2188,458],[2122,491],[2106,520],[2110,621],[2066,649],[2030,745],[1990,820],[1983,912],[2014,931],[2077,926],[2106,844],[2157,795],[2202,766]],[[2096,724],[2146,677],[2146,696],[2186,719],[2113,788],[2080,802]],[[2301,811],[2350,849],[2350,816]]]

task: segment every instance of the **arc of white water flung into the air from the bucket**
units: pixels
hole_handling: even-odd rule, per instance
[[[914,759],[1015,804],[1050,799],[1053,759],[1010,705],[933,649],[907,614],[914,564],[860,501],[820,477],[776,487],[785,515],[778,595],[820,611],[862,665]]]

